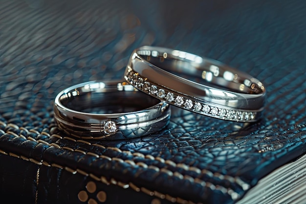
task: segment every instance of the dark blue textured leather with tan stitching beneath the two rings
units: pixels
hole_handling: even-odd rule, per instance
[[[0,5],[3,202],[230,204],[306,151],[303,0]],[[217,59],[260,79],[263,119],[241,124],[173,107],[168,127],[151,136],[88,142],[59,131],[56,94],[121,78],[140,45]]]

